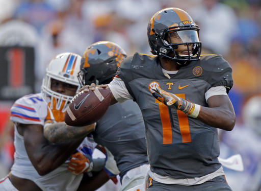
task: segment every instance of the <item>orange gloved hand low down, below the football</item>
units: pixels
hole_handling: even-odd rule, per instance
[[[68,163],[68,170],[74,175],[90,172],[93,168],[93,162],[90,160],[80,152],[74,153]]]

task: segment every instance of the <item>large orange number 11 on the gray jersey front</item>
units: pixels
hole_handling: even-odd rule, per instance
[[[185,99],[184,93],[175,94],[175,95]],[[163,144],[172,144],[172,129],[171,129],[171,123],[169,118],[168,107],[157,99],[155,99],[155,103],[159,104],[159,109],[160,109]],[[182,137],[182,142],[191,142],[188,116],[184,112],[177,110],[177,117],[178,117],[179,130]]]

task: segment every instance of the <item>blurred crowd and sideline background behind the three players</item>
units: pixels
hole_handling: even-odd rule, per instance
[[[222,54],[232,66],[228,96],[237,124],[219,131],[220,156],[243,158],[243,172],[224,168],[233,190],[261,190],[260,0],[0,0],[0,179],[13,163],[9,110],[40,91],[49,61],[62,52],[82,55],[99,40],[118,43],[129,56],[150,54],[148,21],[166,7],[187,11],[200,26],[203,53]]]

